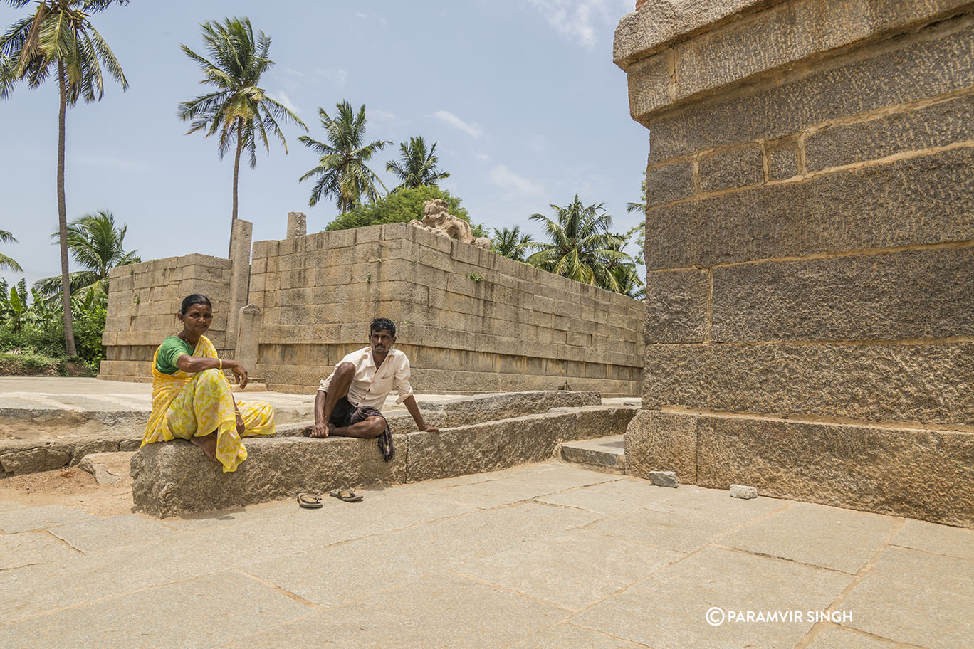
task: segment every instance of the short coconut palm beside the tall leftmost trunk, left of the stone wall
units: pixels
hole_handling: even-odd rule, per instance
[[[70,274],[71,294],[81,300],[99,299],[108,293],[108,273],[116,266],[138,264],[137,251],[126,252],[125,235],[129,226],[118,228],[115,216],[99,210],[85,214],[67,226],[67,245],[75,264],[84,270]],[[52,234],[52,238],[58,234]],[[60,294],[58,277],[34,282],[34,288],[46,299]]]

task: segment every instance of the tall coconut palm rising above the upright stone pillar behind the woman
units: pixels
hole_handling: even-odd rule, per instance
[[[201,56],[181,45],[183,53],[200,64],[204,80],[216,90],[183,101],[179,104],[179,119],[189,122],[189,133],[206,128],[206,136],[219,133],[217,155],[220,160],[232,149],[234,156],[233,209],[230,217],[231,233],[237,220],[237,188],[240,178],[241,154],[249,154],[250,168],[257,166],[256,143],[259,139],[267,153],[271,145],[267,135],[281,140],[284,152],[287,142],[278,120],[290,122],[308,130],[308,126],[281,102],[267,96],[259,88],[260,76],[274,61],[267,54],[271,39],[259,32],[254,39],[253,27],[248,18],[226,18],[223,23],[207,20],[200,25],[206,56]],[[231,242],[232,246],[232,242]]]

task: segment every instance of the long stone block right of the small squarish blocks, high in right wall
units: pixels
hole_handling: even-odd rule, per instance
[[[878,120],[830,126],[805,138],[809,171],[974,138],[974,95]]]

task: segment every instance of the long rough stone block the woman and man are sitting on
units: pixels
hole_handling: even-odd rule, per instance
[[[182,440],[148,444],[131,458],[136,509],[165,518],[267,502],[299,491],[396,485],[406,478],[406,439],[393,435],[396,453],[382,459],[375,440],[246,438],[247,458],[233,473]]]

